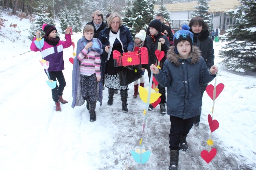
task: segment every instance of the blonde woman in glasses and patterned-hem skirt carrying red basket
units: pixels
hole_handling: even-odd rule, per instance
[[[100,32],[99,40],[102,43],[101,72],[105,78],[105,86],[108,87],[108,105],[113,104],[115,90],[120,90],[122,100],[122,112],[128,112],[127,98],[128,86],[120,86],[118,71],[123,67],[114,66],[113,51],[120,53],[133,51],[134,40],[118,13],[113,13],[108,18],[108,26]]]

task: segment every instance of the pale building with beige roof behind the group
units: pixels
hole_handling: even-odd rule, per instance
[[[220,30],[227,30],[229,24],[234,24],[235,19],[230,18],[227,12],[229,10],[235,10],[238,6],[241,6],[239,0],[213,0],[209,1],[209,13],[212,15],[212,29],[219,27]],[[186,3],[172,3],[165,4],[166,9],[171,13],[171,22],[173,30],[178,30],[182,21],[189,21],[191,16],[195,14],[198,6],[197,2],[186,2]],[[159,8],[155,5],[155,9]],[[211,29],[211,28],[210,28]]]

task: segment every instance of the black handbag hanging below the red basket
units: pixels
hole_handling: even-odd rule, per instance
[[[125,66],[118,72],[118,74],[120,86],[127,86],[141,78],[139,65]]]

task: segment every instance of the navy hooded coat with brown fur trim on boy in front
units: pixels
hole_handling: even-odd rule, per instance
[[[178,58],[174,48],[170,47],[163,70],[155,78],[167,87],[167,114],[188,119],[201,113],[200,83],[207,84],[216,75],[209,73],[198,47],[193,46],[193,53],[187,59]]]

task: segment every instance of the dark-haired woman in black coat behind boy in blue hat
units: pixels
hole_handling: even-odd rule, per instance
[[[190,32],[194,34],[193,37],[193,45],[197,46],[201,55],[204,58],[204,61],[208,68],[214,65],[214,49],[213,49],[213,41],[210,37],[209,27],[207,23],[201,17],[194,17],[190,20],[188,26],[190,27]],[[201,96],[203,97],[203,92],[207,84],[201,84]],[[196,117],[194,124],[196,126],[199,125],[200,115]]]

